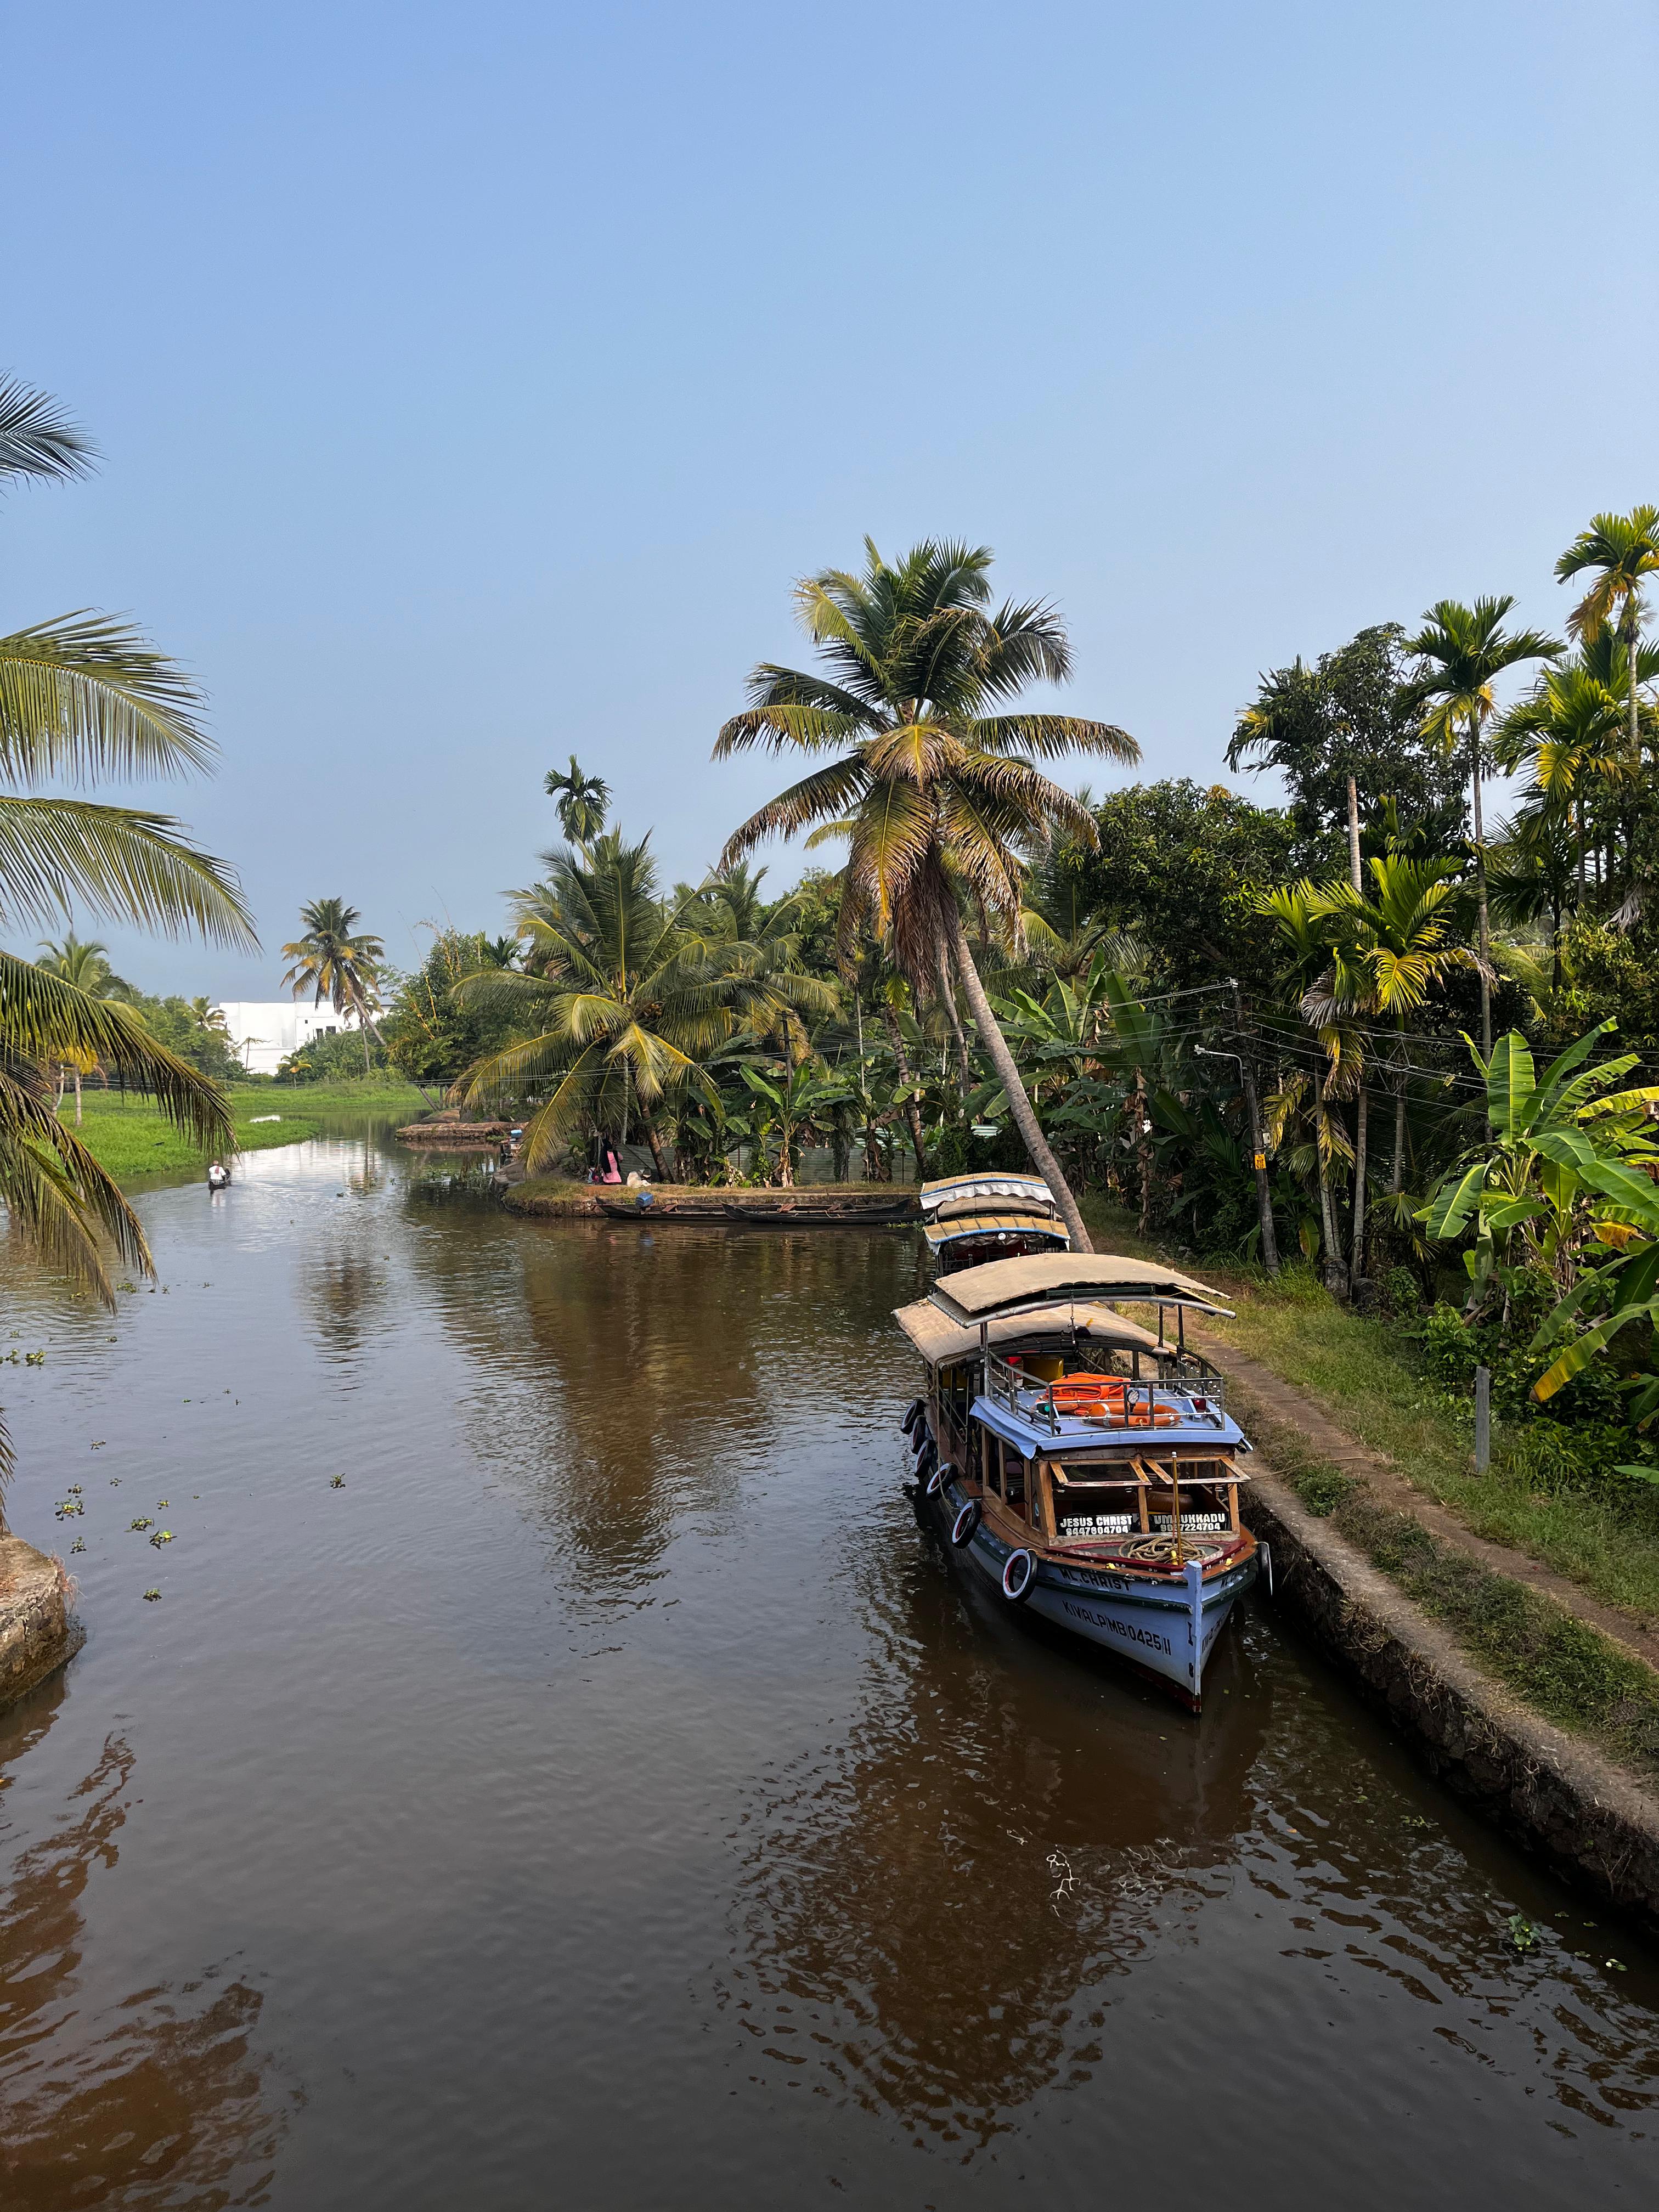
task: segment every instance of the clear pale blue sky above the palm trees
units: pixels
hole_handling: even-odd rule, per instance
[[[1557,624],[1562,544],[1659,493],[1657,46],[1630,0],[11,11],[0,363],[104,467],[9,500],[0,622],[199,672],[223,768],[168,803],[270,953],[119,967],[265,995],[332,891],[403,962],[495,929],[571,750],[697,874],[783,781],[714,730],[865,531],[995,546],[1152,776],[1365,622]]]

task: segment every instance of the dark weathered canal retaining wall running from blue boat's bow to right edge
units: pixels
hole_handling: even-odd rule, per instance
[[[1659,1801],[1480,1674],[1369,1559],[1252,1462],[1245,1520],[1272,1604],[1356,1677],[1438,1781],[1604,1905],[1659,1929]]]

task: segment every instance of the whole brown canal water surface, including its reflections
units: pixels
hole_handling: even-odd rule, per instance
[[[1194,1723],[916,1526],[909,1232],[142,1212],[7,1276],[4,2205],[1652,2201],[1648,1944],[1267,1601]]]

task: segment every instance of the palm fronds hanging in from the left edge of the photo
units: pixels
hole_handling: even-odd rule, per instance
[[[0,378],[0,484],[66,482],[91,445],[46,394]],[[86,611],[0,637],[0,779],[42,785],[184,774],[212,761],[199,692],[131,624]],[[232,872],[166,814],[0,794],[0,922],[55,925],[82,907],[257,949]],[[62,951],[62,947],[60,947]],[[155,1272],[117,1186],[53,1110],[40,1068],[88,1055],[144,1091],[204,1148],[230,1144],[223,1093],[168,1053],[131,1006],[0,953],[0,1201],[49,1265],[115,1303],[106,1245]],[[11,1449],[0,1431],[0,1471]]]

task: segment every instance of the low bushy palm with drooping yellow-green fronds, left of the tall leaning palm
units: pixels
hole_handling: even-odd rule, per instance
[[[823,1015],[838,1002],[832,984],[781,969],[763,947],[688,927],[686,909],[657,898],[650,838],[630,845],[619,830],[553,856],[549,880],[518,902],[518,933],[524,971],[482,969],[456,995],[513,1011],[535,1033],[478,1060],[458,1091],[469,1106],[533,1102],[531,1172],[577,1130],[626,1137],[637,1113],[657,1175],[672,1181],[661,1099],[688,1086],[719,1104],[710,1053],[741,1029],[763,1033],[781,1006]]]

